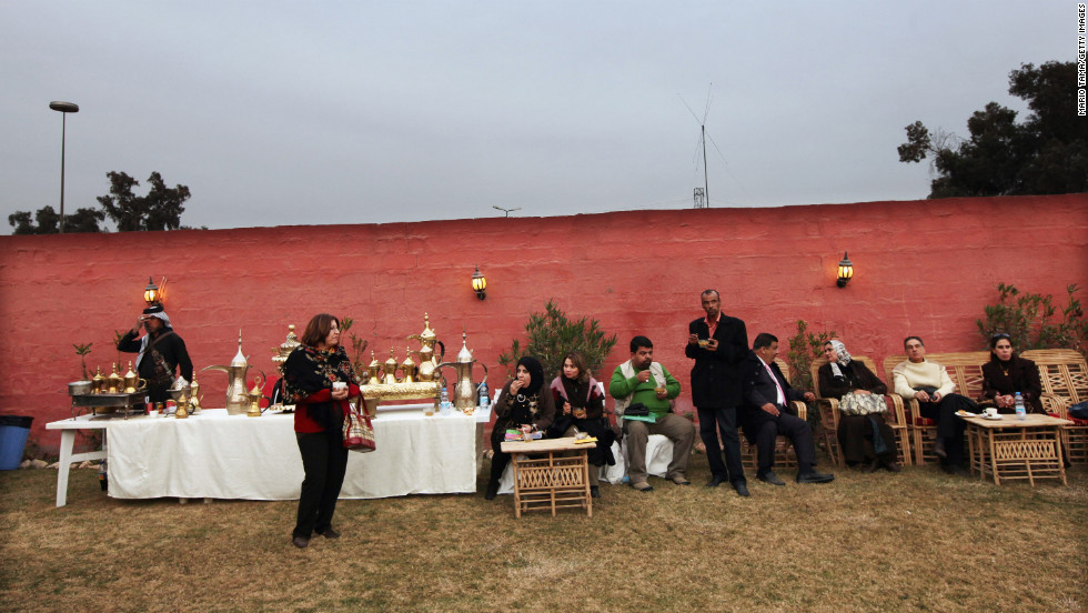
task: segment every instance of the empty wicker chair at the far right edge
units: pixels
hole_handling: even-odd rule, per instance
[[[1042,408],[1074,424],[1062,429],[1061,438],[1069,462],[1088,463],[1088,420],[1069,416],[1069,406],[1088,400],[1088,363],[1071,349],[1036,349],[1021,353],[1039,368]]]

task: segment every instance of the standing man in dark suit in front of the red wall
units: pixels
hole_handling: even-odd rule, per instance
[[[688,324],[684,355],[695,360],[692,402],[698,411],[699,436],[706,445],[706,461],[713,474],[706,486],[716,488],[728,481],[738,494],[747,496],[748,482],[741,465],[741,438],[737,434],[737,409],[741,405],[737,365],[748,354],[748,333],[743,321],[722,314],[722,297],[717,290],[706,290],[699,298],[706,318]],[[722,432],[725,462],[716,430]]]

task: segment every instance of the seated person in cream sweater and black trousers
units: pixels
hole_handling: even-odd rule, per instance
[[[918,336],[903,341],[907,361],[891,370],[895,393],[916,399],[921,416],[937,422],[937,443],[934,453],[940,468],[950,474],[967,475],[964,470],[964,430],[966,423],[956,415],[959,410],[971,411],[974,403],[956,391],[945,366],[926,360],[926,345]]]

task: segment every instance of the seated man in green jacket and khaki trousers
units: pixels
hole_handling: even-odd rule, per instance
[[[654,343],[649,339],[631,340],[631,360],[612,373],[608,394],[616,399],[617,415],[633,410],[623,418],[631,486],[639,492],[654,489],[646,481],[646,441],[651,434],[663,434],[673,441],[673,459],[665,479],[677,485],[691,485],[684,473],[695,442],[695,424],[672,412],[669,401],[679,395],[679,381],[659,362],[654,362]],[[635,411],[638,405],[645,411]]]

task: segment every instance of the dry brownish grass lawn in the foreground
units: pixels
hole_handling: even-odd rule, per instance
[[[481,475],[483,492],[487,466]],[[93,470],[0,473],[3,611],[1040,611],[1088,609],[1088,472],[996,486],[934,468],[834,471],[752,498],[651,479],[593,517],[512,496],[342,501],[291,545],[294,502],[119,501]]]

